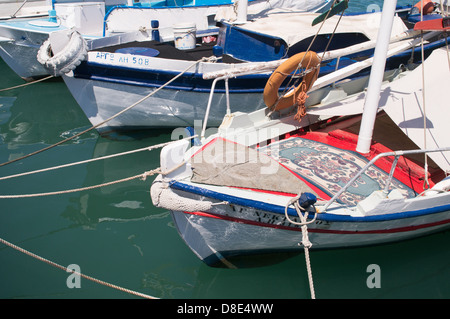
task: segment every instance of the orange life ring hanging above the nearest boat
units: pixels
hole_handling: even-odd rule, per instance
[[[299,86],[291,90],[284,96],[278,95],[278,90],[286,77],[299,66],[305,69],[312,69],[307,73]],[[296,119],[304,116],[305,100],[308,97],[306,92],[311,88],[319,76],[320,58],[317,53],[308,51],[293,55],[283,62],[270,76],[264,87],[264,103],[271,110],[283,110],[292,105],[298,105]]]

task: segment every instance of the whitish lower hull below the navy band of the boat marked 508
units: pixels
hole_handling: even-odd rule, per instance
[[[93,126],[115,116],[156,90],[68,76],[63,76],[63,79]],[[162,89],[97,130],[103,133],[110,130],[191,126],[195,120],[204,118],[208,98],[208,92]],[[226,114],[225,94],[216,94],[214,102],[217,104],[210,113],[208,124],[218,126]],[[264,101],[261,93],[235,93],[230,95],[230,103],[234,110],[252,112],[262,108]]]

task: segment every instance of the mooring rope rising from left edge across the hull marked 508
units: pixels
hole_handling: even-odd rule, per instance
[[[153,92],[149,93],[148,95],[144,96],[144,97],[143,97],[142,99],[140,99],[139,101],[137,101],[137,102],[131,104],[130,106],[126,107],[126,108],[123,109],[122,111],[120,111],[120,112],[114,114],[113,116],[107,118],[106,120],[104,120],[104,121],[102,121],[102,122],[100,122],[100,123],[98,123],[98,124],[96,124],[96,125],[94,125],[94,126],[88,128],[88,129],[86,129],[86,130],[84,130],[84,131],[82,131],[82,132],[80,132],[80,133],[77,133],[77,134],[75,134],[75,135],[73,135],[73,136],[71,136],[71,137],[68,137],[68,138],[66,138],[66,139],[64,139],[64,140],[62,140],[62,141],[59,141],[59,142],[57,142],[57,143],[55,143],[55,144],[49,145],[49,146],[44,147],[44,148],[42,148],[42,149],[40,149],[40,150],[37,150],[37,151],[35,151],[35,152],[29,153],[29,154],[27,154],[27,155],[24,155],[24,156],[18,157],[18,158],[16,158],[16,159],[10,160],[10,161],[8,161],[8,162],[2,163],[2,164],[0,164],[0,167],[1,167],[1,166],[4,166],[4,165],[11,164],[11,163],[14,163],[14,162],[17,162],[17,161],[20,161],[20,160],[22,160],[22,159],[25,159],[25,158],[28,158],[28,157],[30,157],[30,156],[39,154],[39,153],[41,153],[41,152],[47,151],[47,150],[49,150],[49,149],[51,149],[51,148],[54,148],[54,147],[56,147],[56,146],[58,146],[58,145],[61,145],[61,144],[66,143],[66,142],[68,142],[68,141],[70,141],[70,140],[73,140],[74,138],[79,137],[79,136],[83,135],[84,133],[87,133],[87,132],[89,132],[89,131],[91,131],[91,130],[93,130],[93,129],[96,129],[97,127],[99,127],[99,126],[101,126],[101,125],[103,125],[103,124],[105,124],[105,123],[107,123],[107,122],[113,120],[114,118],[118,117],[119,115],[121,115],[121,114],[125,113],[126,111],[130,110],[131,108],[135,107],[135,106],[138,105],[139,103],[145,101],[146,99],[148,99],[148,98],[151,97],[152,95],[156,94],[156,93],[159,92],[161,89],[165,88],[167,85],[169,85],[170,83],[172,83],[173,81],[175,81],[176,79],[178,79],[180,76],[182,76],[184,73],[186,73],[189,69],[191,69],[192,67],[194,67],[194,66],[197,65],[198,63],[200,63],[200,62],[205,62],[205,61],[214,61],[215,59],[217,59],[217,58],[216,58],[215,56],[212,56],[212,57],[209,57],[209,58],[202,58],[202,59],[200,59],[200,60],[195,61],[195,62],[192,63],[189,67],[187,67],[186,69],[184,69],[181,73],[179,73],[179,74],[177,74],[176,76],[174,76],[172,79],[170,79],[169,81],[167,81],[166,83],[164,83],[163,85],[161,85],[160,87],[158,87],[158,88],[157,88],[156,90],[154,90]]]

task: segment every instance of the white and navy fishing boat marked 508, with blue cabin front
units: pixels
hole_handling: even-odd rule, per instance
[[[180,49],[170,40],[106,46],[89,51],[85,61],[62,77],[101,134],[193,125],[205,115],[214,82],[205,74],[252,69],[267,62],[281,63],[307,49],[320,28],[320,24],[313,27],[311,24],[323,14],[274,9],[242,24],[222,22],[215,41],[205,41],[205,34],[197,32],[197,39],[190,39],[187,46],[190,49]],[[336,67],[373,54],[380,17],[379,12],[330,17],[330,24],[320,29],[313,48],[320,52],[328,46],[336,53],[334,58],[324,57],[323,62],[329,65],[322,66],[321,76],[327,73],[327,68],[328,72],[334,71]],[[334,30],[338,20],[339,28]],[[408,32],[402,19],[395,17],[394,41],[410,41],[412,36],[414,34]],[[366,47],[358,46],[363,43]],[[438,43],[443,44],[442,40]],[[349,51],[354,55],[339,51],[354,46],[359,49]],[[339,63],[336,63],[337,57]],[[401,60],[394,59],[393,55],[390,61],[397,67],[407,63],[410,57],[411,52],[401,56]],[[239,110],[243,112],[264,107],[261,94],[270,72],[229,78],[226,84],[230,103],[239,103]],[[225,83],[220,81],[214,90],[218,104],[209,114],[209,125],[219,125],[227,108]],[[129,108],[134,103],[136,105]],[[119,113],[122,115],[116,116]]]

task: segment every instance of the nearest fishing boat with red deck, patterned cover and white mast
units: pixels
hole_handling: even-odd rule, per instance
[[[302,89],[277,96],[276,70],[264,93],[275,103],[230,112],[215,131],[186,130],[187,139],[161,150],[153,204],[171,211],[180,236],[206,264],[235,267],[254,255],[306,256],[449,228],[449,47],[415,68],[386,73],[395,2],[384,3],[368,79],[349,79],[352,65],[317,78],[320,69],[310,63],[296,86]],[[448,18],[433,21],[415,28],[450,28]],[[325,77],[337,82],[322,92]],[[290,106],[278,108],[286,99]]]

